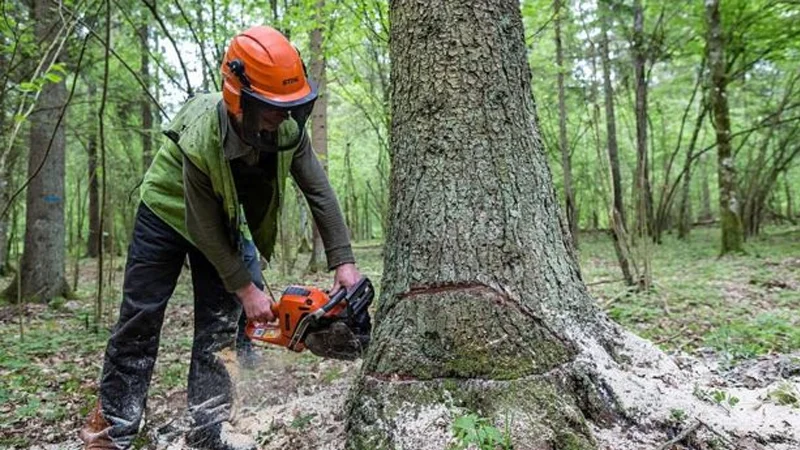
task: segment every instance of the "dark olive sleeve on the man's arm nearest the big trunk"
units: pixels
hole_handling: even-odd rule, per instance
[[[303,140],[295,151],[291,173],[311,208],[314,222],[325,245],[328,269],[355,262],[350,247],[350,235],[342,211],[339,209],[336,194],[314,154],[308,133],[303,135]]]

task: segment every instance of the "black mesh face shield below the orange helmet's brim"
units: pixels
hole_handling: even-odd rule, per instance
[[[284,151],[297,146],[302,139],[303,130],[316,101],[314,97],[303,98],[297,102],[278,103],[256,94],[251,89],[242,88],[242,140],[260,151]],[[292,120],[297,124],[297,133],[290,142],[281,139],[283,122]],[[293,127],[292,127],[293,128]]]

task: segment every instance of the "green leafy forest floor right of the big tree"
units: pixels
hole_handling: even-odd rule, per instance
[[[631,293],[608,238],[583,236],[584,280],[614,320],[664,349],[705,347],[734,362],[800,349],[800,228],[767,228],[746,255],[720,258],[714,228],[651,249],[654,287]]]

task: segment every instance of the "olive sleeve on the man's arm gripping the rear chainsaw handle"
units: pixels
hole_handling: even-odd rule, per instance
[[[211,179],[183,157],[186,229],[192,243],[217,269],[225,289],[234,292],[251,282],[239,252],[229,239],[225,211],[211,187]]]

